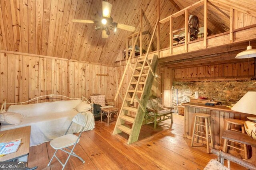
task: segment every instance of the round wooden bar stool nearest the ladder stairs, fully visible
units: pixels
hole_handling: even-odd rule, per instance
[[[212,148],[213,148],[212,128],[211,128],[211,121],[210,121],[211,115],[204,114],[204,113],[194,113],[194,115],[195,115],[195,121],[194,121],[194,129],[193,129],[191,147],[193,147],[195,136],[196,136],[196,142],[198,142],[199,137],[204,138],[204,139],[206,139],[207,153],[209,154],[210,153],[209,138],[211,140],[211,145],[212,145]],[[204,119],[204,122],[200,121],[201,117],[202,117],[202,119]],[[205,127],[205,133],[199,131],[199,126]],[[206,134],[206,137],[200,136],[199,135],[200,133],[201,134]]]

